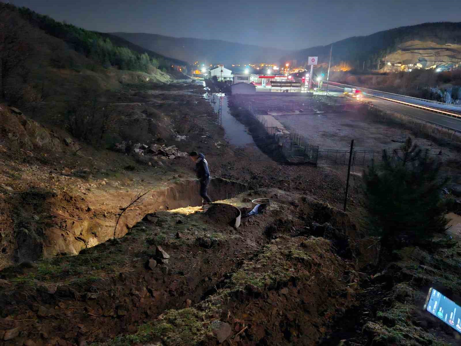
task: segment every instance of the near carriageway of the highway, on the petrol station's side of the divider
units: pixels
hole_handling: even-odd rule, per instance
[[[326,83],[324,83],[323,89],[326,89]],[[331,82],[330,82],[329,89],[332,91],[338,91],[338,89],[344,90],[343,87],[332,85]],[[380,109],[384,109],[384,110],[388,110],[388,111],[392,111],[392,112],[400,113],[404,115],[409,115],[414,118],[419,118],[422,120],[430,121],[431,123],[442,125],[444,127],[448,127],[449,129],[461,132],[461,118],[457,119],[454,117],[427,111],[421,108],[415,108],[412,106],[408,106],[403,103],[397,103],[396,101],[384,100],[382,98],[369,95],[368,93],[366,93],[366,96],[363,97],[362,101],[364,102],[371,101],[373,103],[373,106],[378,107]],[[413,101],[413,100],[411,99],[405,100],[405,103],[410,103],[410,101]]]

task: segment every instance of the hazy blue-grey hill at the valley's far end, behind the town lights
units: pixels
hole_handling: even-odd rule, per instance
[[[202,40],[198,38],[177,38],[144,33],[114,32],[119,36],[146,49],[160,54],[186,60],[210,64],[249,64],[276,62],[289,51],[278,48],[265,48],[248,44],[221,40]]]

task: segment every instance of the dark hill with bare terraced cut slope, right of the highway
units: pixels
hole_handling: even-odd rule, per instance
[[[331,44],[285,54],[285,60],[303,65],[308,56],[328,64]],[[387,59],[386,59],[387,57]],[[461,23],[425,23],[384,30],[368,36],[333,43],[332,66],[347,62],[362,69],[383,67],[384,62],[421,63],[423,66],[458,64],[461,61]]]

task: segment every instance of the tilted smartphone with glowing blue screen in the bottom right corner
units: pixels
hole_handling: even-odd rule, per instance
[[[461,333],[461,307],[441,292],[431,287],[424,309]]]

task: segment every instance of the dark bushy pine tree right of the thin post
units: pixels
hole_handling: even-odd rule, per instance
[[[384,150],[382,163],[364,173],[366,208],[385,249],[397,248],[402,239],[416,244],[447,229],[441,196],[447,179],[440,178],[440,168],[408,137],[401,150],[391,155]]]

